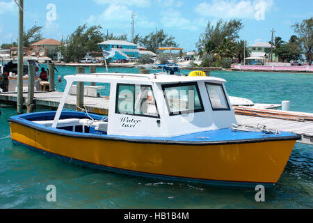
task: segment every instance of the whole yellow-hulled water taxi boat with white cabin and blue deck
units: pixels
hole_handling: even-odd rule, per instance
[[[272,187],[300,139],[237,128],[224,79],[110,73],[65,79],[56,112],[9,118],[15,144],[122,174]],[[63,111],[74,82],[109,83],[109,115]]]

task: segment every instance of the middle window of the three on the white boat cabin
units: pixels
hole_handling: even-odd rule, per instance
[[[197,83],[165,84],[162,89],[170,116],[204,112]]]

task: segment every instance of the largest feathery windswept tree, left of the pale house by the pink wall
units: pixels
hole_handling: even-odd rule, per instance
[[[241,20],[236,19],[228,22],[218,20],[215,26],[208,22],[204,33],[200,34],[199,41],[195,44],[195,47],[197,47],[200,56],[204,52],[211,54],[216,50],[216,47],[223,44],[225,39],[234,42],[239,38],[238,33],[242,28]]]

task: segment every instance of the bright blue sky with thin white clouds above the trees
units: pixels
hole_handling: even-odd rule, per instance
[[[56,7],[56,17],[51,17],[49,4]],[[24,28],[44,26],[45,38],[61,40],[81,24],[100,24],[104,33],[125,33],[130,39],[134,12],[135,33],[145,36],[163,29],[188,51],[195,49],[208,21],[241,19],[240,38],[250,44],[268,42],[272,28],[274,36],[289,40],[294,34],[291,25],[312,17],[312,9],[312,0],[24,0]],[[17,20],[15,2],[0,0],[0,45],[17,39]]]

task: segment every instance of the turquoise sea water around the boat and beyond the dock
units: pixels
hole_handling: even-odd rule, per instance
[[[68,67],[58,70],[62,76],[75,72],[75,68]],[[104,71],[104,68],[97,70]],[[138,72],[131,68],[109,70],[115,71]],[[289,100],[292,110],[313,112],[313,75],[218,71],[211,72],[211,76],[226,79],[230,95],[259,103]],[[64,86],[62,82],[59,89]],[[104,93],[108,92],[105,89]],[[278,185],[266,190],[266,201],[258,203],[254,190],[96,171],[14,146],[7,119],[16,110],[1,107],[1,112],[0,208],[313,208],[313,146],[310,145],[296,144]],[[47,201],[47,185],[56,186],[56,202]]]

